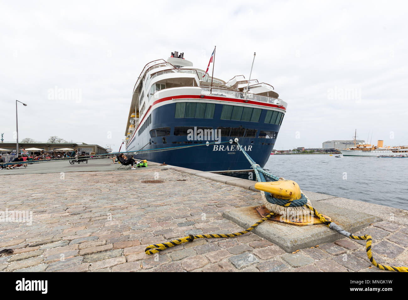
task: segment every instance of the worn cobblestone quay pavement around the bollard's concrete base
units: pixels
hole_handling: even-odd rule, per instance
[[[155,179],[164,182],[141,183]],[[32,211],[32,224],[0,223],[0,249],[14,249],[0,271],[380,271],[365,242],[349,239],[288,254],[248,233],[147,256],[149,244],[240,231],[222,212],[260,203],[257,192],[161,167],[2,176],[0,192],[0,217]],[[373,236],[378,262],[408,265],[407,227],[383,221],[361,233]]]

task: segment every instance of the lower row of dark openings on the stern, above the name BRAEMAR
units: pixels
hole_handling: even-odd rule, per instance
[[[192,129],[194,131],[194,127],[188,126],[176,126],[174,127],[173,135],[174,136],[187,136],[188,129]],[[211,136],[213,134],[213,127],[197,127],[197,131],[199,129],[203,130],[204,136]],[[220,131],[218,131],[220,130]],[[246,129],[246,128],[232,128],[232,127],[217,127],[217,132],[221,132],[221,136],[231,136],[234,138],[256,138],[257,137],[257,129]],[[269,138],[269,139],[276,139],[278,133],[276,131],[270,130],[261,130],[259,131],[258,138]],[[160,127],[155,128],[150,131],[150,137],[160,137],[160,136],[170,136],[170,127]]]

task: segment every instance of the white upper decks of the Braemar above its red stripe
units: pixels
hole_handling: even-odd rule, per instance
[[[219,97],[220,100],[233,98],[242,99],[244,102],[275,104],[284,111],[287,107],[287,103],[278,98],[279,95],[273,91],[274,88],[270,84],[259,83],[256,79],[248,83],[243,75],[234,76],[228,82],[211,78],[203,69],[193,67],[192,62],[185,60],[184,53],[178,55],[175,52],[167,61],[153,60],[144,66],[133,87],[125,135],[130,125],[137,127],[139,120],[143,119],[153,101],[159,97],[159,91],[166,89],[167,92],[170,92],[178,88],[177,93],[180,93],[182,87],[185,87],[186,90],[191,87],[200,88],[199,91],[194,89],[195,93]],[[135,114],[136,118],[133,124],[130,124],[132,114]]]

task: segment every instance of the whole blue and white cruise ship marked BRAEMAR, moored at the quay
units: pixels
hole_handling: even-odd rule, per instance
[[[271,84],[212,78],[184,53],[146,64],[133,87],[126,152],[201,171],[245,171],[239,144],[264,167],[286,113]]]

